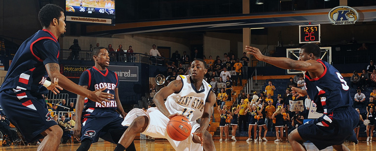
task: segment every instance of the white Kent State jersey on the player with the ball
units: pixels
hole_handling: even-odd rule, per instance
[[[183,87],[167,97],[165,102],[170,114],[179,113],[190,121],[196,121],[203,115],[205,102],[208,100],[211,86],[203,80],[203,85],[198,90],[190,81],[190,75],[179,75]]]

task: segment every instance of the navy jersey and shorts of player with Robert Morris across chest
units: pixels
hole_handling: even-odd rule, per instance
[[[92,67],[82,73],[79,85],[87,86],[90,91],[107,87],[104,92],[115,96],[115,89],[118,88],[118,75],[108,69],[101,71],[96,67]],[[90,139],[91,143],[95,143],[100,137],[111,143],[118,143],[120,137],[113,140],[114,136],[111,135],[114,133],[110,131],[117,131],[117,134],[123,134],[126,127],[122,125],[123,117],[116,112],[117,104],[115,98],[109,101],[103,101],[105,104],[103,106],[98,102],[85,98],[81,118],[81,140]]]

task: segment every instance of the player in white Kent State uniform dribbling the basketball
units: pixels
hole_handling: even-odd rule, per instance
[[[206,130],[215,102],[211,86],[203,80],[208,72],[206,66],[204,60],[196,59],[191,64],[190,75],[179,75],[162,88],[153,99],[157,109],[145,112],[134,108],[129,111],[122,123],[129,128],[114,151],[124,151],[138,133],[165,138],[176,151],[215,151],[211,134]],[[167,123],[177,115],[187,117],[192,126],[192,134],[184,141],[174,141],[167,135]],[[200,117],[201,123],[198,124],[196,120]]]

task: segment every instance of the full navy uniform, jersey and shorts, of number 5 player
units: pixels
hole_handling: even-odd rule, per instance
[[[341,145],[347,139],[357,143],[353,129],[359,122],[359,113],[352,108],[349,86],[332,65],[317,61],[324,67],[323,74],[312,79],[306,72],[305,84],[308,96],[317,105],[316,111],[324,115],[299,126],[298,133],[319,150]]]

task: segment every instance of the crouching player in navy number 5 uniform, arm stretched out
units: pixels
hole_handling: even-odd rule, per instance
[[[329,146],[337,151],[350,151],[343,142],[358,143],[353,129],[359,122],[359,114],[352,107],[349,86],[331,64],[320,59],[320,47],[306,44],[299,51],[298,60],[284,57],[269,57],[260,50],[246,46],[258,60],[283,69],[301,70],[305,74],[306,90],[293,87],[301,96],[308,95],[323,116],[313,119],[293,130],[289,141],[293,151],[304,151],[303,143],[311,141],[319,150]]]

